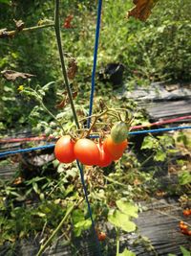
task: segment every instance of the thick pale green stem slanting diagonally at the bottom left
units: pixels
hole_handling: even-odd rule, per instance
[[[70,216],[70,214],[73,212],[74,208],[79,205],[82,202],[83,198],[81,198],[77,203],[74,203],[66,212],[64,218],[59,222],[59,224],[57,225],[57,227],[53,230],[52,235],[49,237],[49,239],[46,241],[45,244],[40,246],[39,251],[37,252],[36,256],[40,256],[42,255],[43,251],[49,246],[49,244],[51,244],[54,236],[57,234],[57,232],[61,229],[63,223],[68,219],[68,217]],[[70,241],[67,241],[65,243],[65,245],[71,244]]]

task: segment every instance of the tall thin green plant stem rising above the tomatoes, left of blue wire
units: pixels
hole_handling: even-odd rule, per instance
[[[59,0],[55,0],[55,7],[54,7],[54,30],[55,30],[55,35],[56,35],[56,40],[57,40],[57,48],[59,52],[59,58],[60,58],[60,63],[61,63],[61,68],[62,68],[62,75],[63,75],[63,80],[66,85],[68,97],[70,100],[71,108],[73,111],[74,115],[74,122],[77,128],[79,127],[79,122],[77,119],[76,111],[74,108],[74,101],[73,101],[73,94],[71,87],[69,85],[68,77],[67,77],[67,71],[66,71],[66,66],[65,66],[65,61],[64,61],[64,54],[62,50],[62,41],[61,41],[61,36],[60,36],[60,23],[59,23]]]

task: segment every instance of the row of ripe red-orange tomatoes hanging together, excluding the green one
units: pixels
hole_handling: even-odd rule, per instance
[[[127,139],[115,143],[111,136],[96,144],[93,140],[82,138],[76,142],[65,135],[58,139],[54,148],[54,155],[61,163],[72,163],[75,159],[84,165],[109,166],[112,161],[118,160],[125,148]]]

